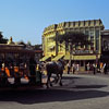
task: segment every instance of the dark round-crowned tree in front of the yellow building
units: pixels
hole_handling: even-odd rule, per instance
[[[66,47],[70,47],[70,61],[72,59],[72,51],[74,51],[76,46],[83,48],[84,46],[90,45],[88,36],[81,32],[66,32],[63,35],[58,35],[56,39],[56,41],[59,41],[60,44],[64,41],[65,49]]]

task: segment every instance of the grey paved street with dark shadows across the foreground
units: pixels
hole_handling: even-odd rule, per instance
[[[109,75],[64,74],[63,86],[0,92],[0,109],[109,109]]]

